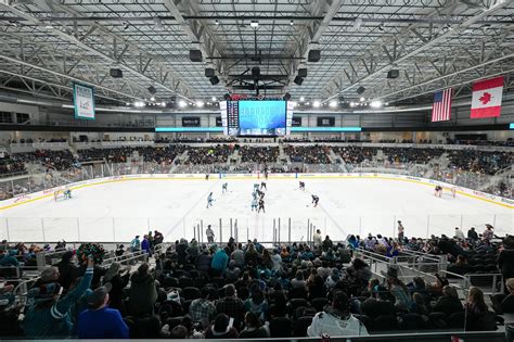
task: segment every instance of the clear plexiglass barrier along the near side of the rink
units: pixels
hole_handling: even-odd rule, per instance
[[[406,228],[406,237],[429,238],[432,235],[453,236],[454,227],[467,230],[476,227],[480,232],[485,224],[496,227],[501,236],[513,227],[509,214],[490,215],[369,215],[369,216],[320,216],[320,217],[1,217],[0,236],[9,241],[130,241],[158,230],[165,241],[181,238],[196,238],[207,242],[205,230],[210,225],[215,241],[234,238],[245,242],[259,241],[291,242],[309,241],[313,231],[333,241],[346,240],[349,235],[361,237],[381,233],[397,237],[397,221]]]

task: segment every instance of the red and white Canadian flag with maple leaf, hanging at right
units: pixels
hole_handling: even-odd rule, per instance
[[[503,76],[473,84],[471,118],[500,116],[502,92]]]

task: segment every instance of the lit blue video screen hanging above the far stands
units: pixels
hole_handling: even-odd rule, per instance
[[[239,101],[240,136],[284,136],[286,101]]]

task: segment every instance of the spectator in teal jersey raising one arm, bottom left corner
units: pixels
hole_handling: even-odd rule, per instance
[[[93,258],[88,259],[86,273],[80,282],[61,297],[63,288],[50,282],[38,288],[35,302],[27,309],[23,330],[29,339],[69,338],[74,328],[69,309],[86,293],[93,278]]]

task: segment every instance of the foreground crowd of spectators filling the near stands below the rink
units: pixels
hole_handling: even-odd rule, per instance
[[[217,245],[181,239],[159,253],[153,250],[157,235],[146,235],[142,241],[137,237],[130,250],[153,255],[155,267],[143,263],[136,269],[119,263],[102,267],[91,258],[77,262],[68,251],[57,265],[41,271],[25,307],[14,305],[13,287],[2,282],[0,335],[246,339],[496,330],[497,314],[514,312],[514,238],[499,245],[487,231],[479,237],[470,229],[467,238],[457,233],[428,240],[350,236],[344,243],[323,239],[317,231],[310,245],[271,249],[257,240],[242,244],[231,238]],[[365,262],[351,256],[358,248],[390,255],[410,249],[448,254],[455,271],[463,257],[493,253],[505,293],[494,295],[488,305],[483,291],[472,287],[462,301],[447,278],[436,275],[434,282],[421,277],[403,282],[395,265],[376,277]],[[123,246],[119,250],[118,256],[127,253]],[[39,251],[36,245],[10,246],[3,241],[0,264],[20,257],[28,263]]]

